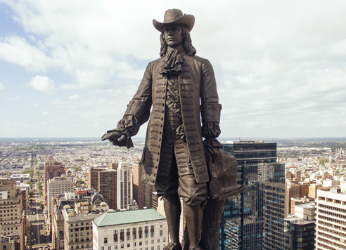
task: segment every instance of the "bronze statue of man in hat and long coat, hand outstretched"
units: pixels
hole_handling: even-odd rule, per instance
[[[140,164],[145,183],[155,185],[164,200],[171,242],[166,249],[180,250],[179,216],[184,201],[190,249],[201,249],[200,228],[209,180],[204,138],[220,134],[221,105],[214,70],[196,55],[190,32],[193,15],[178,9],[165,12],[163,22],[153,20],[160,34],[160,58],[150,62],[134,98],[117,129],[103,140],[132,146],[131,137],[149,120]]]

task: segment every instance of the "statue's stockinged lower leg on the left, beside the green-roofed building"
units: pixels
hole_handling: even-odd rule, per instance
[[[168,225],[168,232],[171,237],[171,243],[179,243],[179,222],[180,222],[180,213],[181,205],[180,199],[176,195],[174,197],[164,197],[163,206],[165,208],[165,214]]]

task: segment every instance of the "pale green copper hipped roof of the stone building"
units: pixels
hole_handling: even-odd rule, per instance
[[[98,227],[105,227],[108,225],[158,221],[163,219],[165,219],[165,216],[160,215],[155,209],[139,209],[103,213],[103,215],[94,220],[94,223]]]

